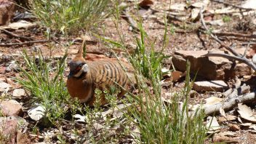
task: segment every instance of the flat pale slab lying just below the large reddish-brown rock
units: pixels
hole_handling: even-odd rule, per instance
[[[193,89],[198,92],[201,91],[217,91],[223,92],[227,89],[228,85],[224,81],[196,81],[193,83]]]

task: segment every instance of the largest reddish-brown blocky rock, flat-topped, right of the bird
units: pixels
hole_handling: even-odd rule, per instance
[[[220,50],[212,52],[224,53]],[[201,51],[177,51],[172,57],[172,63],[177,70],[186,70],[186,60],[191,62],[191,73],[211,80],[230,79],[234,76],[250,75],[251,68],[248,65],[233,63],[223,57],[205,57],[207,50]]]

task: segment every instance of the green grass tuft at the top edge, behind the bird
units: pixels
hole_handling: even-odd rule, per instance
[[[34,0],[32,12],[47,28],[62,33],[92,29],[108,15],[105,0]]]

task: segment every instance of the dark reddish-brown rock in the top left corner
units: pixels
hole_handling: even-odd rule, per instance
[[[0,0],[0,25],[7,25],[15,13],[15,4],[9,0]]]

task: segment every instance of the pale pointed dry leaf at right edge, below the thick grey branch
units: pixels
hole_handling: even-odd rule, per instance
[[[249,108],[247,105],[242,105],[241,103],[238,104],[238,107],[238,112],[243,119],[256,123],[256,116],[253,114],[251,108]]]

